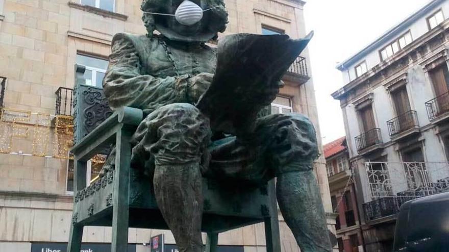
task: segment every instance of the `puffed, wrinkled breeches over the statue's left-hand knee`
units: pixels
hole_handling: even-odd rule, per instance
[[[182,165],[201,162],[210,141],[209,120],[188,103],[162,106],[149,114],[133,135],[132,162]],[[151,160],[154,164],[148,164]]]

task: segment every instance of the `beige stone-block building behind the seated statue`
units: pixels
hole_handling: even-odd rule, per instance
[[[0,251],[65,251],[72,209],[73,66],[86,66],[86,84],[101,86],[119,32],[146,33],[140,0],[0,0]],[[233,33],[286,33],[304,37],[301,0],[227,0]],[[307,50],[285,76],[272,111],[308,115],[318,129]],[[320,144],[321,145],[321,144]],[[90,165],[94,178],[101,160]],[[332,212],[326,165],[316,162],[325,209]],[[280,217],[283,251],[298,251]],[[335,230],[335,220],[329,218]],[[169,232],[130,229],[129,251],[149,251],[149,238]],[[87,227],[85,251],[106,251],[109,228]],[[220,234],[220,245],[264,251],[262,224]],[[233,245],[233,246],[231,246]],[[89,250],[90,249],[90,250]]]

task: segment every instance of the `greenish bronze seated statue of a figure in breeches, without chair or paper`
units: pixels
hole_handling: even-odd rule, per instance
[[[103,86],[112,109],[143,110],[131,137],[131,165],[153,180],[180,251],[203,251],[202,177],[253,184],[276,177],[280,210],[302,251],[332,251],[313,174],[318,147],[312,123],[299,114],[254,113],[275,99],[280,78],[227,101],[253,111],[246,120],[254,125],[244,131],[218,129],[195,106],[216,72],[217,52],[205,43],[226,29],[223,1],[144,0],[141,9],[148,35],[114,36]],[[104,173],[114,170],[114,161],[112,152]]]

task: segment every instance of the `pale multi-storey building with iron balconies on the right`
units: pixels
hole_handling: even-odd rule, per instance
[[[366,251],[391,251],[404,202],[447,190],[447,17],[433,0],[337,66]]]

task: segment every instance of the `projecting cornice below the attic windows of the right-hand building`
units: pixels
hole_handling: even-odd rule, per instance
[[[379,74],[383,74],[383,71],[385,71],[387,68],[392,67],[393,65],[409,65],[409,59],[407,58],[409,55],[411,55],[413,52],[419,52],[419,50],[422,50],[423,47],[427,43],[429,43],[431,40],[437,38],[438,36],[444,36],[444,32],[449,29],[449,20],[444,21],[437,27],[435,27],[433,30],[427,32],[425,35],[422,35],[418,39],[414,40],[411,44],[406,46],[403,50],[397,52],[394,54],[390,59],[387,59],[385,61],[382,61],[375,67],[369,69],[365,74],[362,76],[352,80],[351,82],[347,83],[343,88],[335,91],[332,94],[332,97],[337,100],[342,100],[348,92],[351,90],[364,85],[365,83],[369,82],[374,76],[377,76]],[[389,77],[389,76],[388,76]]]

